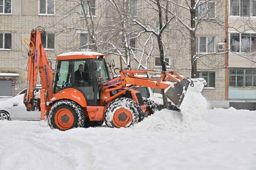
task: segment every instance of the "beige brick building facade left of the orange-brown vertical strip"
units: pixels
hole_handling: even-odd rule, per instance
[[[103,8],[101,6],[99,8],[101,2],[103,0],[91,0],[91,14],[95,23],[98,23],[98,32],[104,30],[106,25],[116,19],[111,18],[112,15],[108,11],[108,3],[106,3],[106,7]],[[132,16],[137,20],[147,20],[150,22],[148,25],[157,30],[159,19],[157,19],[155,11],[147,8],[149,4],[144,3],[144,1],[133,0],[129,5],[133,7]],[[90,13],[88,9],[88,4],[85,1],[85,11],[89,19]],[[71,10],[73,11],[72,15],[67,15]],[[224,3],[215,1],[202,3],[197,9],[196,17],[199,18],[202,13],[209,11],[205,15],[207,18],[215,20],[218,17],[224,21],[225,15],[219,15],[224,10]],[[90,45],[91,39],[88,36],[88,31],[86,31],[87,27],[84,26],[84,16],[81,13],[83,14],[81,6],[74,1],[40,0],[32,2],[27,0],[0,0],[0,95],[15,95],[26,88],[28,59],[27,48],[23,43],[23,38],[29,38],[30,31],[38,26],[42,26],[45,29],[44,47],[53,68],[55,58],[60,53],[93,50],[93,45]],[[189,25],[190,21],[186,18],[190,14],[180,10],[180,15],[183,17],[184,22]],[[74,27],[76,29],[70,32],[69,28]],[[165,51],[167,69],[177,71],[184,77],[191,77],[189,43],[182,41],[182,36],[185,37],[186,35],[180,34],[179,31],[173,31],[172,34],[175,34],[172,35],[175,38],[170,40],[163,36],[163,39],[167,42],[166,46],[168,45],[168,49]],[[114,36],[118,36],[118,34]],[[128,36],[130,37],[128,39],[129,45],[134,49],[133,54],[137,57],[130,58],[130,66],[131,69],[138,69],[140,68],[138,60],[142,57],[142,63],[146,65],[144,61],[146,54],[143,54],[140,48],[143,47],[149,37],[138,37],[136,34],[129,34]],[[209,100],[225,100],[226,97],[225,54],[216,54],[222,52],[221,49],[218,49],[218,44],[224,43],[224,39],[225,31],[223,27],[218,25],[209,26],[207,23],[203,23],[201,24],[201,29],[196,32],[196,51],[199,54],[205,54],[205,57],[197,61],[198,76],[207,80],[208,84],[202,93]],[[114,43],[118,44],[119,40],[120,38],[117,38]],[[161,70],[157,39],[154,39],[153,44],[153,50],[147,58],[146,68]],[[183,49],[178,51],[177,46],[182,46]],[[149,43],[145,46],[145,50],[150,51],[151,47],[151,43]],[[102,51],[102,49],[98,51]],[[117,68],[121,66],[120,56],[113,52],[107,53],[106,60],[107,62],[114,61]],[[232,63],[230,60],[229,62]],[[122,66],[125,67],[125,65],[122,62]],[[229,65],[229,67],[237,68],[234,65]],[[230,71],[233,70],[231,69]],[[230,94],[230,96],[232,95]]]

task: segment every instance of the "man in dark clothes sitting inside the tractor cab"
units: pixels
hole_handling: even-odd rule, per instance
[[[75,71],[75,84],[77,86],[87,86],[89,76],[84,72],[84,65],[80,64],[78,70]]]

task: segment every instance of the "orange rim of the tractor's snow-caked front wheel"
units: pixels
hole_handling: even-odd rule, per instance
[[[133,120],[131,111],[126,108],[119,108],[114,112],[113,123],[117,127],[126,127]]]

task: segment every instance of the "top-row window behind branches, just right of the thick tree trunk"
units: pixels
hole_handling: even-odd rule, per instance
[[[215,18],[214,2],[207,2],[207,3],[199,2],[199,4],[200,5],[195,9],[195,17]]]

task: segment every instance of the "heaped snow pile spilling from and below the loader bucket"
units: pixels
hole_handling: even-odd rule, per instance
[[[207,132],[215,128],[202,120],[207,113],[207,101],[201,93],[188,89],[180,109],[181,112],[167,109],[157,111],[131,128],[178,133]]]

